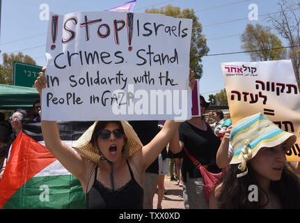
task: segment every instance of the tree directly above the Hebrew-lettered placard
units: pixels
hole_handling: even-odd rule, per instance
[[[250,52],[252,61],[276,61],[286,59],[287,52],[281,40],[271,33],[268,27],[260,24],[247,24],[246,30],[242,34],[242,49]],[[274,49],[281,48],[281,49]]]

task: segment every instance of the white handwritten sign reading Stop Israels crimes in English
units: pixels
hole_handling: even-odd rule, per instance
[[[191,20],[127,12],[50,18],[42,119],[191,117]]]

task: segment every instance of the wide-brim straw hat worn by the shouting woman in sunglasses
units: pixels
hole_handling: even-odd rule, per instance
[[[81,155],[84,155],[84,157],[93,160],[94,162],[99,161],[100,158],[103,157],[99,149],[95,148],[93,143],[90,142],[97,123],[98,121],[95,121],[95,123],[93,123],[93,125],[91,125],[90,128],[88,128],[88,130],[86,130],[86,132],[84,132],[84,134],[82,134],[72,145],[72,147],[81,153]],[[139,151],[143,147],[143,144],[132,128],[132,125],[127,123],[127,121],[120,121],[120,123],[123,126],[125,137],[127,138],[122,155],[125,158],[131,157],[136,151]]]

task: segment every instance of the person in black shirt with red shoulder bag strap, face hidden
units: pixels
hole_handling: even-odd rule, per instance
[[[177,140],[174,140],[174,138],[176,138],[174,137],[170,142],[170,147],[173,149],[173,153],[181,152],[184,147],[187,148],[187,151],[189,151],[196,160],[203,165],[208,165],[208,171],[219,173],[221,169],[216,166],[216,152],[218,151],[221,141],[216,137],[210,125],[203,120],[205,109],[210,103],[205,102],[205,99],[201,95],[200,105],[201,115],[181,123],[178,129],[179,136],[175,135]],[[183,152],[182,155],[184,207],[186,209],[208,208],[200,170],[191,162],[186,153]]]

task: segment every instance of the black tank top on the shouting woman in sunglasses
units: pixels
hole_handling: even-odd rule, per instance
[[[93,187],[86,194],[86,208],[90,209],[142,209],[143,188],[134,179],[132,169],[129,168],[131,179],[118,190],[111,190],[97,180],[97,167]]]

